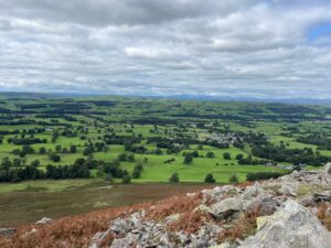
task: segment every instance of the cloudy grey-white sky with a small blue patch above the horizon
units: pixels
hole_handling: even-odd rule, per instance
[[[0,90],[331,98],[330,0],[0,0]]]

